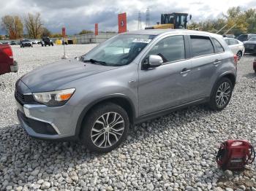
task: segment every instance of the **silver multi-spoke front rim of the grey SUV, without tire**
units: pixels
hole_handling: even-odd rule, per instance
[[[91,128],[91,141],[96,147],[108,148],[116,144],[124,133],[124,119],[121,114],[102,114]]]

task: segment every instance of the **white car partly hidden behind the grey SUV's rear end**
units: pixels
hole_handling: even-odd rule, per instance
[[[227,42],[227,45],[233,51],[233,53],[238,56],[238,61],[239,61],[241,57],[244,55],[244,43],[241,41],[238,41],[237,39],[232,39],[232,38],[224,38],[224,39],[225,39],[225,42]]]

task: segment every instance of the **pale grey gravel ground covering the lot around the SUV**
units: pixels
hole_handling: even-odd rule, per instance
[[[68,45],[67,55],[92,46]],[[255,163],[232,173],[215,162],[222,141],[256,145],[253,56],[238,63],[233,98],[222,112],[205,106],[173,112],[136,125],[121,147],[95,155],[80,144],[31,139],[15,114],[15,81],[59,60],[62,48],[13,47],[20,71],[0,76],[0,190],[256,190]]]

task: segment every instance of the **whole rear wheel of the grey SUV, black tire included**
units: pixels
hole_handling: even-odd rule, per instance
[[[223,77],[214,86],[208,106],[214,111],[225,109],[230,102],[233,92],[233,84],[230,79]],[[222,93],[222,95],[220,95]]]

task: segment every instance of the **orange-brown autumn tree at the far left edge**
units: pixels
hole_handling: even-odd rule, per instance
[[[23,23],[19,16],[5,15],[1,18],[1,21],[1,24],[10,36],[10,39],[19,39],[23,36]]]

